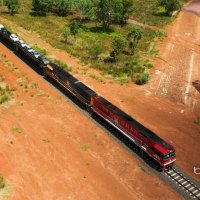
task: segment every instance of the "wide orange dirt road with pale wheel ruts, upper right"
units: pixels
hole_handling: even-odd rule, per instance
[[[199,1],[187,4],[168,27],[149,90],[200,113]],[[190,11],[190,12],[187,12]],[[195,14],[194,14],[195,13]]]

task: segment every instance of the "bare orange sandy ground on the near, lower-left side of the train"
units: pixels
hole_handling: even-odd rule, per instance
[[[0,52],[17,67],[0,62],[16,102],[0,107],[7,199],[181,199],[2,44]],[[20,86],[21,77],[38,87]]]

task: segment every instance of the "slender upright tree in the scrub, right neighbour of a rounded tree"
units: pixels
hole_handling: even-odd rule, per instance
[[[131,55],[135,53],[135,49],[138,45],[139,40],[142,38],[142,29],[138,27],[134,27],[131,31],[128,32],[128,41],[129,41],[129,49]]]

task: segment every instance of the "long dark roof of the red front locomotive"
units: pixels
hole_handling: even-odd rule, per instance
[[[132,125],[133,127],[137,128],[138,131],[146,138],[151,138],[153,141],[161,145],[167,150],[173,150],[173,147],[166,143],[163,139],[161,139],[159,136],[157,136],[154,132],[149,130],[148,128],[144,127],[142,124],[140,124],[138,121],[133,119],[131,116],[111,104],[109,101],[104,99],[103,97],[99,97],[98,100],[104,104],[106,107],[108,107],[110,110],[115,112],[118,116],[120,116],[122,119],[124,119],[127,123]]]

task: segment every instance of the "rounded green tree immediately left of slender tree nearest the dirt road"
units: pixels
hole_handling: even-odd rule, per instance
[[[112,49],[110,56],[116,61],[117,56],[125,49],[127,46],[127,40],[122,35],[114,35],[112,40]]]

